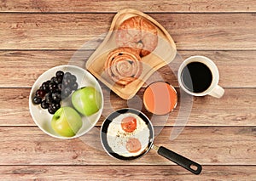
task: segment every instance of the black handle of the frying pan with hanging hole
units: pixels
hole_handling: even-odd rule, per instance
[[[168,150],[163,146],[160,146],[157,150],[157,153],[160,156],[164,156],[170,161],[177,163],[177,165],[189,170],[191,173],[195,173],[198,175],[201,173],[201,165],[196,163],[195,161],[191,161],[184,156],[178,155],[177,153],[173,152],[172,150]]]

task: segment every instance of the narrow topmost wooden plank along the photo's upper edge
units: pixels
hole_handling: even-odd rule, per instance
[[[136,0],[129,1],[110,1],[110,0],[91,0],[91,1],[72,1],[72,0],[12,0],[0,3],[1,12],[116,12],[123,8],[136,8],[145,12],[255,12],[256,3],[251,0]],[[103,7],[103,8],[102,8]]]

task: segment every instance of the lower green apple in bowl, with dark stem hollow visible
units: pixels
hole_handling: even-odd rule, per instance
[[[81,116],[72,107],[61,107],[51,119],[51,127],[55,133],[64,137],[73,137],[82,125]]]

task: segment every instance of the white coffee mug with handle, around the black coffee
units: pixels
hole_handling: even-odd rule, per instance
[[[183,80],[182,80],[183,69],[187,65],[189,65],[189,63],[192,63],[192,62],[203,63],[204,65],[207,65],[209,70],[212,72],[212,82],[211,82],[210,86],[201,93],[194,93],[194,92],[190,91],[188,88],[186,88],[185,85],[183,84]],[[183,61],[182,65],[179,66],[179,69],[177,71],[177,80],[178,80],[180,87],[183,88],[183,90],[186,93],[189,93],[194,96],[211,95],[215,98],[221,98],[224,95],[224,88],[221,88],[220,86],[218,86],[219,74],[218,74],[217,66],[212,62],[211,59],[208,59],[207,57],[204,57],[204,56],[196,55],[196,56],[191,56],[188,59],[185,59]]]

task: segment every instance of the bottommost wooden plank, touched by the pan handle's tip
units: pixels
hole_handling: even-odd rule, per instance
[[[2,166],[0,177],[15,180],[253,180],[255,166],[203,166],[200,176],[177,166]],[[182,175],[182,176],[181,176]],[[1,179],[0,178],[0,179]]]

